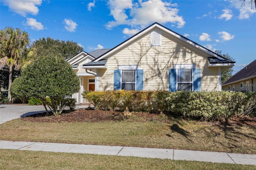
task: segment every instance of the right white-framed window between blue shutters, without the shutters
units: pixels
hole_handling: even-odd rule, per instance
[[[177,69],[177,90],[193,91],[192,69]]]

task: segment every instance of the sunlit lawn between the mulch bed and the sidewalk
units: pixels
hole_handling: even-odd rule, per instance
[[[256,154],[256,127],[224,126],[171,119],[115,123],[32,123],[0,125],[0,140],[137,146]]]

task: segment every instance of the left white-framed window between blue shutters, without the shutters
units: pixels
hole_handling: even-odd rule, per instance
[[[136,90],[136,69],[121,70],[121,89]]]

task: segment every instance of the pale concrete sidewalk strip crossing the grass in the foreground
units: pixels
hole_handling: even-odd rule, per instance
[[[225,152],[205,152],[177,149],[138,148],[126,146],[102,146],[45,142],[13,142],[3,140],[0,140],[0,149],[104,154],[116,156],[135,156],[172,160],[194,160],[204,162],[256,165],[256,154],[234,154]]]

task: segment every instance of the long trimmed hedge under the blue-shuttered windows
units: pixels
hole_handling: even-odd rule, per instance
[[[204,121],[228,121],[232,116],[256,116],[255,92],[85,91],[95,109],[171,113]]]

